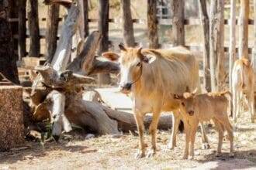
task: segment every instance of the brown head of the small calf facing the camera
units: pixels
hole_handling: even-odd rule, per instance
[[[195,113],[195,93],[196,90],[194,90],[192,93],[185,92],[182,96],[178,94],[174,95],[176,100],[180,100],[180,107],[182,111],[191,116]]]

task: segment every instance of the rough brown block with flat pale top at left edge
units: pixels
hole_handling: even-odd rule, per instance
[[[22,87],[0,86],[0,151],[24,142]]]

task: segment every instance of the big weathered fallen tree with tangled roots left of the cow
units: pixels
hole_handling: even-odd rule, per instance
[[[89,76],[97,73],[119,73],[119,65],[108,61],[100,61],[95,56],[96,49],[102,39],[98,31],[92,32],[83,44],[81,52],[72,62],[72,36],[79,30],[78,19],[82,12],[78,5],[68,1],[47,1],[49,4],[61,4],[67,8],[68,15],[61,31],[53,59],[45,66],[37,67],[39,75],[33,82],[30,93],[30,107],[36,121],[50,118],[52,134],[57,140],[62,131],[71,131],[71,124],[82,128],[90,128],[98,134],[119,134],[121,131],[135,131],[136,121],[133,114],[112,110],[93,100],[85,100],[88,89],[85,84],[95,80]],[[64,4],[63,4],[64,3]],[[74,42],[73,42],[74,43]],[[80,48],[79,48],[80,49]],[[30,91],[29,91],[30,90]],[[151,117],[145,119],[146,126]],[[171,116],[161,117],[159,128],[171,128]]]

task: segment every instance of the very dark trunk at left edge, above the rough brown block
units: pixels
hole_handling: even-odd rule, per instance
[[[14,54],[12,32],[7,21],[5,1],[0,0],[0,72],[13,83],[19,84],[17,57]]]

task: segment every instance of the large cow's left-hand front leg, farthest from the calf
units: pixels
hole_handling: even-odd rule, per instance
[[[140,150],[137,152],[136,158],[143,158],[145,156],[145,143],[144,143],[144,114],[135,112],[135,120],[140,137]]]

